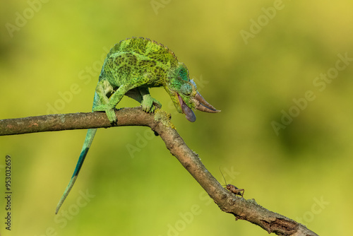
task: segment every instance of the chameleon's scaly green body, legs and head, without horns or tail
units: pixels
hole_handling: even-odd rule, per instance
[[[150,96],[148,88],[164,87],[182,112],[176,91],[188,107],[195,107],[186,96],[196,94],[196,85],[189,79],[186,66],[177,61],[174,53],[157,42],[143,38],[131,38],[116,44],[105,59],[100,82],[97,85],[97,95],[102,105],[93,108],[94,111],[107,112],[110,122],[116,122],[114,107],[124,95],[141,103],[145,112],[153,112],[160,102]],[[129,91],[130,90],[130,91]],[[109,96],[112,95],[110,99]]]

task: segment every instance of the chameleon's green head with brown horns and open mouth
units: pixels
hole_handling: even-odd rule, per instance
[[[179,62],[177,68],[170,71],[166,90],[170,98],[172,98],[177,111],[184,113],[189,122],[196,121],[193,108],[203,112],[220,112],[198,93],[196,84],[193,80],[190,80],[189,71],[183,63]]]

